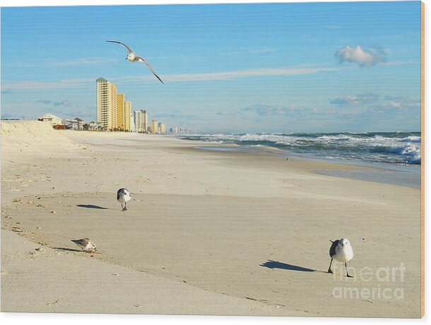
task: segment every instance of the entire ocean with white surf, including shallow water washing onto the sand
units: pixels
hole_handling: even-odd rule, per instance
[[[380,171],[316,172],[420,188],[420,132],[187,134],[179,138],[208,142],[208,146],[200,147],[206,150],[264,150],[272,147],[281,150],[280,154],[285,157],[377,167]],[[211,143],[227,146],[211,146]]]

